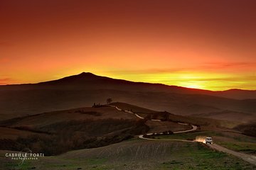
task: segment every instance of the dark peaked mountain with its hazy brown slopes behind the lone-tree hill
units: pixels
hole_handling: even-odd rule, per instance
[[[106,98],[154,111],[193,115],[234,111],[255,118],[255,91],[206,91],[81,73],[38,84],[0,86],[0,120],[92,106]]]

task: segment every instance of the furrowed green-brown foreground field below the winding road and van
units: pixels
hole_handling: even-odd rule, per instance
[[[23,169],[4,162],[0,169]],[[197,142],[129,140],[94,149],[81,149],[60,156],[44,157],[24,164],[32,169],[256,169],[256,166]]]

